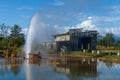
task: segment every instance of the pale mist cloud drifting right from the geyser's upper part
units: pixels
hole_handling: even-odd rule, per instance
[[[52,35],[56,33],[56,30],[50,24],[44,22],[42,15],[37,13],[31,20],[29,32],[33,41],[47,42],[52,40]]]

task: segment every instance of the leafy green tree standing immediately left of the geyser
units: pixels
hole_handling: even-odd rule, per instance
[[[24,34],[21,33],[21,28],[18,25],[14,25],[11,28],[10,37],[8,40],[6,55],[9,57],[14,57],[18,53],[18,49],[24,44]]]

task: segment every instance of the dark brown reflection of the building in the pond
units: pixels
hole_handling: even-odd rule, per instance
[[[97,77],[97,61],[80,60],[80,61],[67,61],[67,64],[56,65],[57,72],[65,73],[70,80],[71,78],[80,77]]]

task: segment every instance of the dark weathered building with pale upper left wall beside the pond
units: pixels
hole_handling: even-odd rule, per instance
[[[62,46],[68,51],[76,50],[96,50],[97,31],[84,31],[83,29],[70,29],[65,34],[54,35],[57,51]]]

